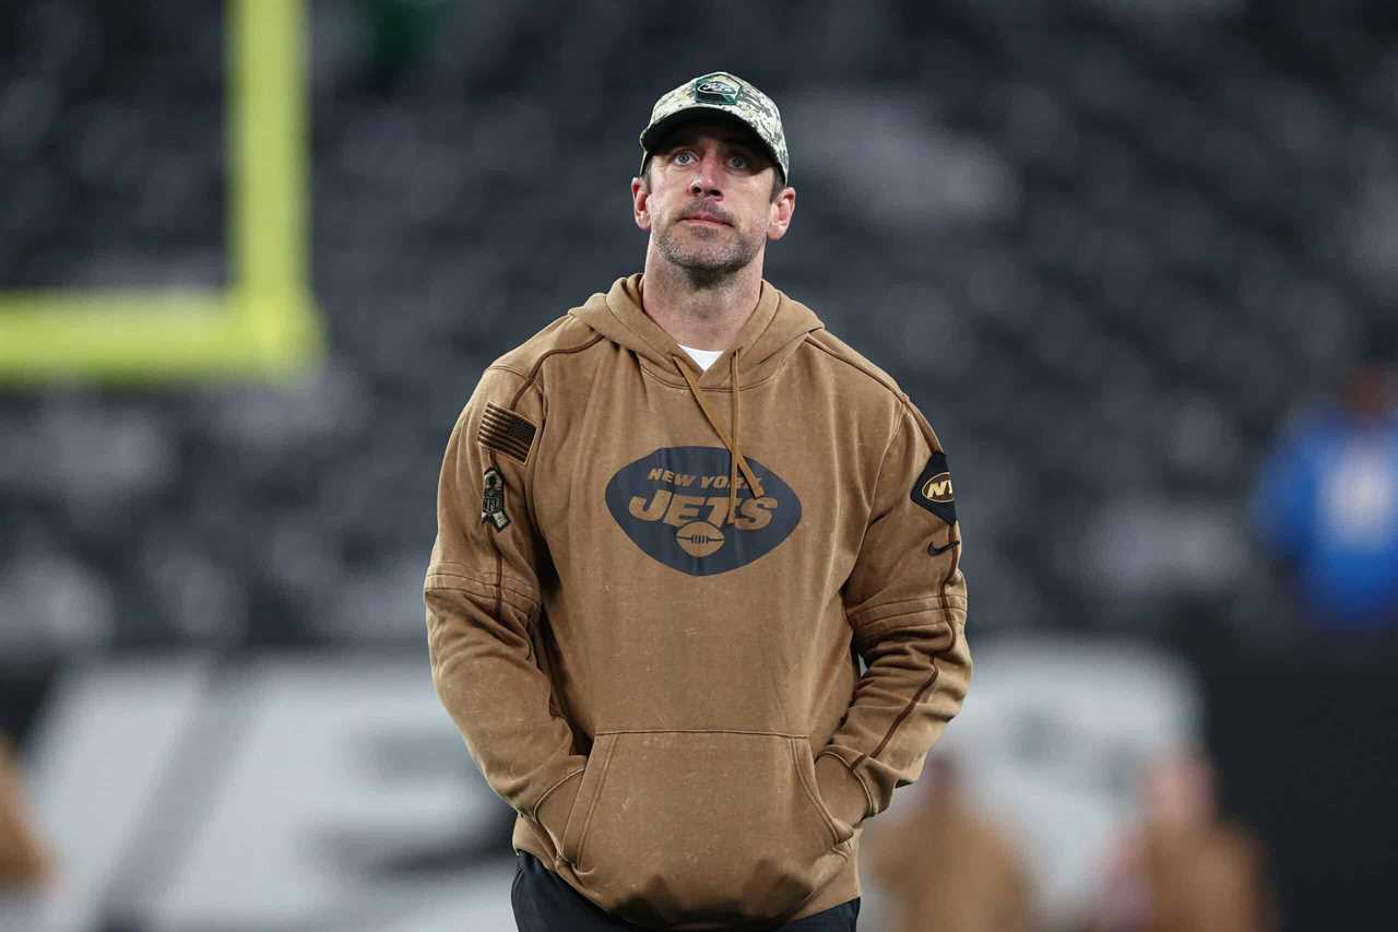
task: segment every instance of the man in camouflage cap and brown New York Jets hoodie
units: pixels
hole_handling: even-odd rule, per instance
[[[433,683],[519,813],[520,929],[854,929],[861,826],[970,679],[946,456],[762,278],[776,105],[707,74],[640,140],[644,271],[488,367],[447,442]]]

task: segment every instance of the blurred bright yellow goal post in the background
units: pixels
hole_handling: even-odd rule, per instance
[[[0,291],[0,383],[292,375],[323,354],[308,277],[305,0],[228,0],[226,291]]]

